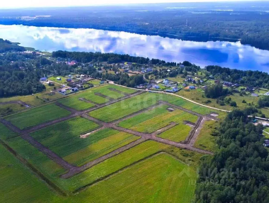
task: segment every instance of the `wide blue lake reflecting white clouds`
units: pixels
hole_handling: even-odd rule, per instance
[[[192,42],[96,29],[0,25],[0,38],[41,51],[114,52],[169,62],[269,72],[269,51],[240,42]]]

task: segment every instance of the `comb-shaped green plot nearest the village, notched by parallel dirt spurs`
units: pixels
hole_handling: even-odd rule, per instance
[[[99,96],[99,95],[95,95],[94,93],[100,93],[102,95],[108,96],[108,97],[113,98],[113,99],[121,98],[124,96],[123,94],[121,94],[119,92],[109,90],[109,88],[115,88],[121,92],[130,93],[130,94],[133,92],[136,92],[135,90],[123,88],[123,87],[116,86],[116,85],[101,85],[99,87],[90,88],[90,89],[87,89],[85,91],[75,93],[74,95],[70,95],[67,98],[63,98],[63,99],[59,100],[59,102],[66,105],[66,106],[74,108],[78,111],[82,111],[82,110],[93,107],[94,104],[86,102],[86,101],[80,101],[79,98],[84,98],[88,101],[92,101],[92,102],[97,103],[97,104],[103,104],[103,103],[108,102],[109,99],[104,98],[104,97]]]

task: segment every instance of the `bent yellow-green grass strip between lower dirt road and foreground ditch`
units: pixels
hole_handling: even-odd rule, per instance
[[[67,187],[65,188],[66,190],[74,191],[76,189],[83,188],[85,185],[92,184],[96,180],[106,177],[107,175],[119,171],[160,151],[168,151],[172,154],[174,153],[176,157],[183,162],[188,159],[188,164],[190,165],[196,165],[199,158],[202,156],[202,154],[184,149],[179,150],[178,148],[156,141],[145,141],[116,156],[106,159],[97,165],[94,165],[80,174],[77,174],[71,178],[60,179],[59,181],[62,182],[61,184],[63,184],[64,187]]]

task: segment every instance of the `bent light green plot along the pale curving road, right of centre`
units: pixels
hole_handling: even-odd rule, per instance
[[[167,101],[201,114],[208,114],[212,112],[212,110],[206,107],[195,105],[182,98],[178,98],[172,95],[146,92],[141,95],[137,95],[135,97],[128,98],[123,101],[97,109],[95,111],[91,111],[89,115],[104,122],[111,122],[130,115],[136,111],[156,105],[159,100]]]

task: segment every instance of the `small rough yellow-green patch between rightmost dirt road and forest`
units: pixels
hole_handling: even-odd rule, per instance
[[[216,144],[216,137],[211,135],[211,132],[217,126],[217,121],[206,121],[201,129],[198,137],[195,140],[194,146],[208,151],[216,151],[218,146]]]

